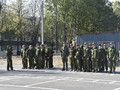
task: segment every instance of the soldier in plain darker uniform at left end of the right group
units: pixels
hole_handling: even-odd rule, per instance
[[[68,55],[69,55],[69,50],[66,45],[66,43],[63,43],[63,47],[61,48],[61,57],[62,57],[62,62],[63,62],[63,69],[62,71],[68,71]]]

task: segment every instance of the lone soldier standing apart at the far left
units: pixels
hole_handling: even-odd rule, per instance
[[[8,45],[6,51],[7,71],[10,71],[9,68],[11,69],[11,71],[13,71],[12,55],[13,55],[12,48]]]

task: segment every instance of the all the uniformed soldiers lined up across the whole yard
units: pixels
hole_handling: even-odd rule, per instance
[[[98,47],[95,43],[84,45],[70,44],[68,48],[66,43],[60,49],[63,62],[62,71],[68,71],[68,58],[70,60],[71,71],[84,71],[84,72],[108,72],[108,63],[110,73],[115,73],[116,61],[120,59],[120,50],[116,51],[113,43],[100,44]],[[22,69],[44,69],[53,68],[53,54],[54,51],[47,45],[36,44],[36,47],[30,45],[26,48],[22,45]],[[12,65],[12,48],[7,47],[7,70],[13,70]],[[118,58],[118,59],[117,59]]]

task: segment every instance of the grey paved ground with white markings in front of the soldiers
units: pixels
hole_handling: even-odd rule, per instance
[[[120,90],[120,74],[52,70],[6,71],[0,66],[0,90]]]

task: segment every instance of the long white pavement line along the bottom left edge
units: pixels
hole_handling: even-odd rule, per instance
[[[16,88],[32,88],[32,89],[45,89],[45,90],[62,90],[62,89],[56,89],[56,88],[46,88],[46,87],[24,87],[24,86],[19,86],[19,85],[8,85],[8,84],[0,84],[2,87],[16,87]]]

